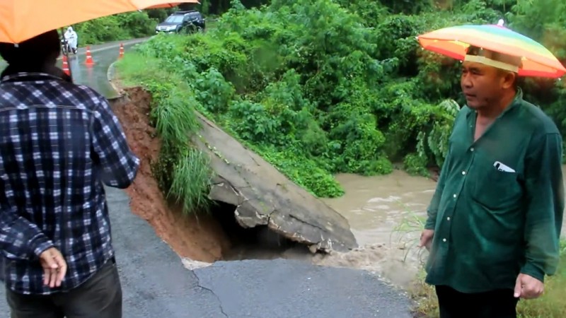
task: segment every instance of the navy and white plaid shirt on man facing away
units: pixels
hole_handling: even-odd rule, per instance
[[[114,256],[103,182],[125,188],[139,159],[108,101],[45,73],[0,82],[0,250],[16,293],[67,291]],[[43,285],[39,255],[67,260],[59,288]]]

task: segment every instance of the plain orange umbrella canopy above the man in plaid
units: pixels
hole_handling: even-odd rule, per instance
[[[2,0],[0,42],[20,43],[49,30],[112,14],[165,8],[198,0]]]

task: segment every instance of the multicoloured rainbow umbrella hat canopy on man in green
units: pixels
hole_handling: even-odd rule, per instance
[[[424,49],[463,61],[470,45],[521,57],[519,76],[559,78],[565,67],[543,45],[502,25],[459,25],[417,37]]]

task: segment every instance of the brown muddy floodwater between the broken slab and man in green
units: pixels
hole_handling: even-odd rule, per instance
[[[323,201],[347,218],[360,248],[316,256],[313,262],[375,271],[406,287],[426,257],[427,252],[415,245],[437,183],[400,170],[375,177],[342,174],[336,179],[345,195]]]

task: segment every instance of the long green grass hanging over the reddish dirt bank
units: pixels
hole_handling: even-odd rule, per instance
[[[152,171],[161,191],[180,204],[185,215],[208,211],[212,170],[208,155],[191,144],[200,122],[190,86],[177,74],[164,71],[158,59],[138,52],[129,53],[116,69],[123,86],[141,86],[151,93],[150,120],[161,139]]]

